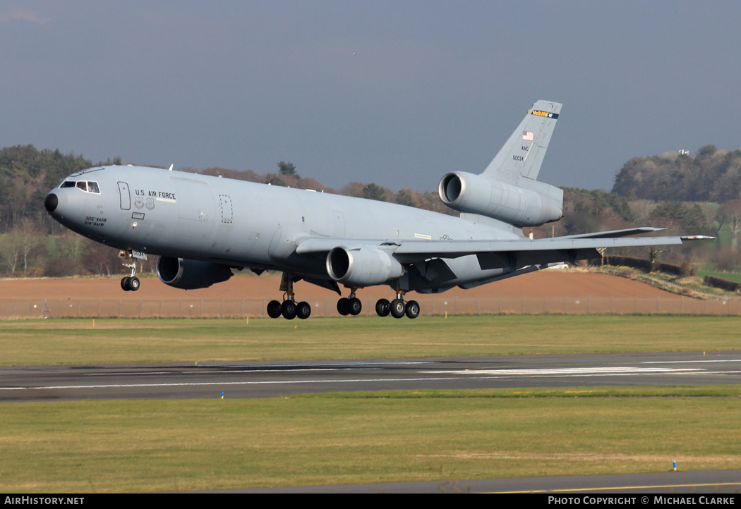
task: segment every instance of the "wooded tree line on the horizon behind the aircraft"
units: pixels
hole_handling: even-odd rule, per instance
[[[67,175],[107,164],[122,164],[122,160],[109,158],[93,163],[82,155],[63,154],[59,149],[38,150],[33,145],[0,149],[0,275],[67,276],[125,270],[115,249],[64,229],[43,206],[46,193]],[[292,163],[280,161],[276,169],[266,175],[218,167],[184,171],[457,214],[433,191],[405,187],[393,192],[376,183],[360,182],[336,190],[302,177]],[[741,150],[720,151],[708,145],[694,156],[633,158],[617,173],[612,192],[563,189],[565,218],[534,228],[535,237],[663,226],[672,235],[712,235],[720,239],[717,243],[689,243],[672,249],[664,255],[667,261],[692,260],[726,270],[741,267]],[[620,254],[645,256],[631,250]],[[145,263],[143,269],[152,270],[153,261]]]

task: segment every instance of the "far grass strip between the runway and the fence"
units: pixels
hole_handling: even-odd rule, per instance
[[[355,359],[741,348],[741,317],[14,320],[1,365]]]

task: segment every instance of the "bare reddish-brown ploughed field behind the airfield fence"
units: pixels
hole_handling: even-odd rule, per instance
[[[280,277],[275,274],[238,275],[225,283],[207,289],[179,290],[160,282],[156,277],[142,278],[139,291],[123,291],[118,277],[73,279],[4,279],[0,280],[0,300],[229,300],[229,299],[278,299]],[[299,300],[333,299],[336,294],[309,283],[295,285]],[[347,292],[343,291],[347,296]],[[511,277],[506,280],[479,286],[471,290],[451,289],[445,297],[661,297],[679,298],[645,283],[608,274],[546,270],[533,274]],[[393,298],[388,286],[362,289],[358,296],[363,300]],[[410,297],[415,298],[415,297]]]

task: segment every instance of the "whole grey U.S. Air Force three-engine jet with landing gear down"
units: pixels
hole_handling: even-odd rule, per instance
[[[536,239],[523,227],[562,217],[563,191],[536,180],[561,104],[537,101],[479,175],[451,172],[438,192],[456,218],[362,198],[330,195],[142,166],[76,172],[44,200],[59,223],[113,246],[131,269],[122,289],[139,289],[136,259],[159,255],[157,274],[179,289],[225,281],[245,268],[282,272],[283,300],[268,314],[308,318],[293,283],[308,281],[342,296],[341,314],[359,314],[356,291],[389,285],[380,316],[419,315],[408,291],[436,293],[599,258],[617,246],[680,244],[699,237],[627,237],[655,228]]]

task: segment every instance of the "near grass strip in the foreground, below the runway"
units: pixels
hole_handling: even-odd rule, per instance
[[[714,386],[4,404],[0,491],[741,468],[740,395]]]

